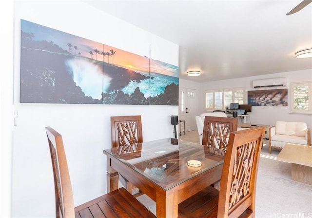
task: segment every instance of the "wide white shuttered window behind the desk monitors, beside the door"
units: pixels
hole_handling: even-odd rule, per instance
[[[245,88],[218,89],[206,91],[206,109],[225,110],[231,103],[244,104]]]

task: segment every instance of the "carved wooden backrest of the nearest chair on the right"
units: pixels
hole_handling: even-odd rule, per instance
[[[265,128],[257,127],[230,133],[220,182],[218,217],[237,218],[243,213],[254,217],[264,131]]]

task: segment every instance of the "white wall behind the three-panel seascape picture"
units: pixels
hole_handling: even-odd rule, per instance
[[[110,116],[141,115],[143,140],[173,137],[170,116],[178,106],[19,103],[20,19],[35,22],[138,55],[178,65],[178,45],[122,20],[71,1],[15,1],[12,216],[55,217],[51,158],[44,127],[63,136],[75,206],[106,193],[106,156],[111,147]],[[161,52],[166,51],[166,52]]]

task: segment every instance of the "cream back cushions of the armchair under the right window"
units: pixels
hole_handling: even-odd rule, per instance
[[[305,122],[276,121],[275,128],[279,135],[305,137],[308,127]]]

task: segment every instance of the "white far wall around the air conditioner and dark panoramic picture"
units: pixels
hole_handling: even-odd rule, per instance
[[[205,90],[217,89],[217,88],[234,88],[234,87],[246,87],[246,104],[247,104],[247,91],[249,90],[259,90],[260,88],[252,88],[252,81],[255,79],[270,79],[270,78],[287,78],[287,86],[283,88],[288,88],[288,102],[290,102],[290,83],[291,82],[301,82],[301,81],[312,81],[312,69],[292,71],[276,74],[267,74],[254,77],[246,77],[239,79],[225,79],[212,82],[199,83],[199,104],[198,104],[198,114],[205,112]],[[274,89],[274,88],[261,88]],[[308,128],[312,128],[312,115],[308,114],[290,114],[290,104],[286,107],[269,107],[269,106],[253,106],[252,112],[249,112],[250,121],[252,123],[274,125],[276,120],[282,121],[300,121],[306,122]],[[247,119],[249,122],[249,119]]]

